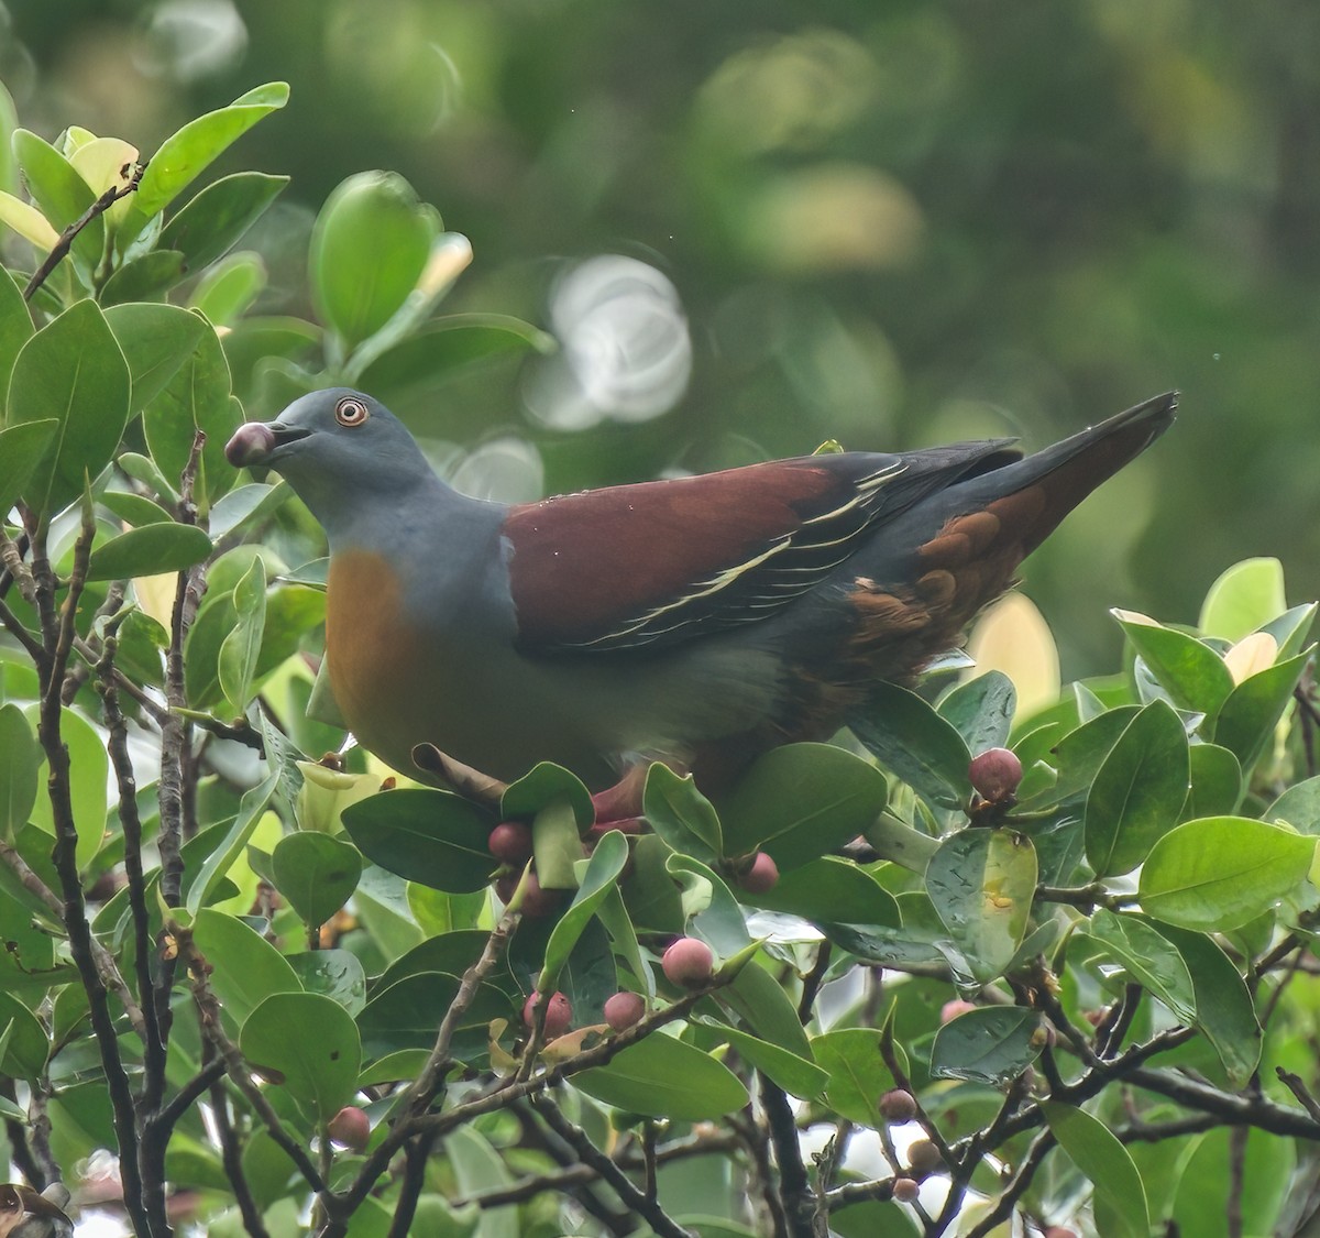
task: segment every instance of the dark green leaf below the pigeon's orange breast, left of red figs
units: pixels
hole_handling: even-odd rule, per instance
[[[432,890],[469,894],[495,871],[492,822],[447,791],[385,791],[346,808],[343,824],[372,863]]]

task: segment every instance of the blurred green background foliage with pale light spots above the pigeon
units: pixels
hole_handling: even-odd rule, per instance
[[[1030,561],[1065,677],[1107,606],[1192,622],[1276,554],[1320,593],[1320,7],[11,0],[24,123],[144,152],[269,79],[218,172],[306,313],[312,218],[395,169],[471,238],[446,310],[554,330],[400,409],[517,492],[810,451],[1040,446],[1177,387],[1175,430]],[[591,261],[603,256],[627,261]],[[531,445],[529,450],[528,445]]]

